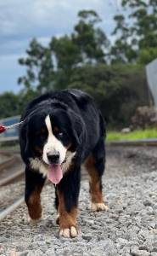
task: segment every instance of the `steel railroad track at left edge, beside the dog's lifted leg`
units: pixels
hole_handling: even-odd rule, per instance
[[[0,221],[6,218],[10,212],[20,206],[24,201],[24,193],[18,192],[16,183],[21,181],[24,177],[24,167],[20,160],[20,156],[17,153],[0,151],[0,155],[3,156],[4,160],[0,162]],[[13,184],[14,189],[9,190],[8,186]],[[19,185],[18,185],[19,187]],[[24,187],[24,185],[23,185]],[[14,190],[16,190],[14,197]],[[24,190],[24,189],[23,189]],[[6,198],[7,197],[7,198]]]

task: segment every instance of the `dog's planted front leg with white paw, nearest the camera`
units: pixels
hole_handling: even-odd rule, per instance
[[[57,186],[59,196],[59,236],[76,237],[77,204],[80,191],[80,168],[64,174]]]

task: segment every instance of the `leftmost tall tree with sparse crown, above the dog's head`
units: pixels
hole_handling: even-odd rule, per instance
[[[32,39],[26,53],[27,57],[19,60],[20,65],[27,68],[26,75],[21,77],[18,83],[24,84],[25,91],[50,90],[53,83],[53,60],[50,49]]]

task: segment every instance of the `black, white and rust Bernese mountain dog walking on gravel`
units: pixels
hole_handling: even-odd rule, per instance
[[[42,216],[40,194],[48,178],[55,185],[59,236],[75,237],[82,164],[90,177],[92,211],[107,210],[102,195],[102,115],[91,96],[71,89],[37,97],[28,104],[21,121],[20,152],[25,162],[25,202],[31,221]]]

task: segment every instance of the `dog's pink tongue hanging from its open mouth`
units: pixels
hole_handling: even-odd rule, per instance
[[[48,170],[48,179],[54,183],[58,184],[63,177],[62,169],[59,165],[52,165]]]

